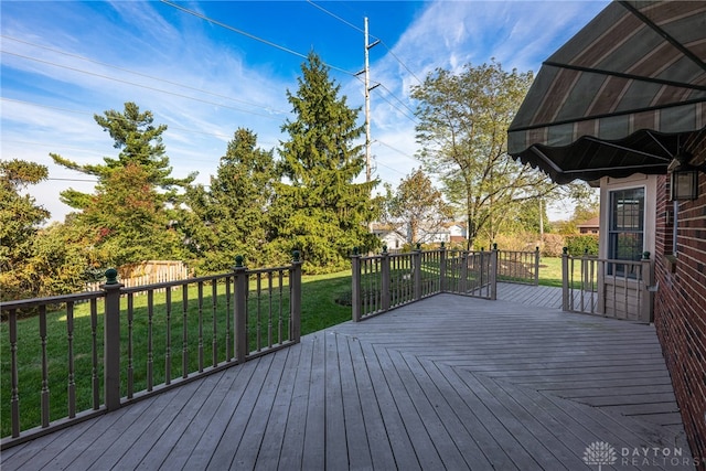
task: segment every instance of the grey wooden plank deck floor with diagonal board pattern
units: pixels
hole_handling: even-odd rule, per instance
[[[602,469],[693,469],[622,461],[691,457],[653,327],[524,301],[439,295],[343,323],[6,450],[2,470],[598,469],[597,441],[618,453]]]

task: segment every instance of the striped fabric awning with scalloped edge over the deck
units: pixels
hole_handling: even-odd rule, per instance
[[[706,131],[706,1],[616,1],[545,61],[509,133],[555,181],[665,173]]]

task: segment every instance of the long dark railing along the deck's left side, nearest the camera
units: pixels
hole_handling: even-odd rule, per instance
[[[0,304],[2,449],[300,340],[298,254],[132,288],[107,275],[100,291]]]

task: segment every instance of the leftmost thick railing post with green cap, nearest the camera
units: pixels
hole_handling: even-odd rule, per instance
[[[120,289],[118,270],[106,270],[106,282],[100,289],[106,292],[105,315],[103,318],[103,388],[108,410],[120,408]]]

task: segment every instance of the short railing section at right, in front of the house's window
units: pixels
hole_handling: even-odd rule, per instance
[[[653,265],[650,254],[640,261],[573,257],[561,258],[563,310],[652,321]]]

